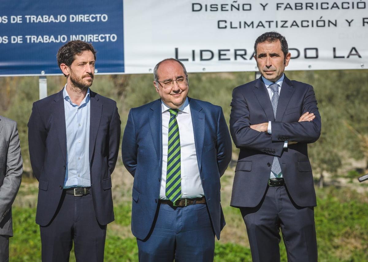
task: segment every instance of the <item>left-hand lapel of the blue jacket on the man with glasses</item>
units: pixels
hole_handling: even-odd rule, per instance
[[[151,128],[151,136],[153,146],[156,150],[159,167],[162,168],[162,110],[161,100],[156,100],[151,106],[149,112],[149,126]]]

